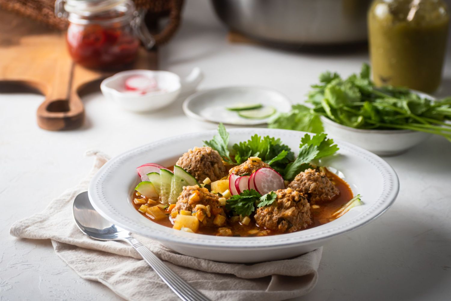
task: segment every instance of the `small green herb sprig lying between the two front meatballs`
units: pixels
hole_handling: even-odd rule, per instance
[[[274,191],[261,195],[257,190],[244,190],[240,194],[232,195],[226,202],[226,209],[241,216],[251,215],[255,209],[271,205],[277,198]]]

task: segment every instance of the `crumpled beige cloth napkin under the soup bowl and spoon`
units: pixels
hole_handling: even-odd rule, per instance
[[[41,213],[15,222],[11,235],[50,239],[56,254],[79,276],[103,283],[126,300],[178,300],[131,246],[93,240],[75,225],[72,202],[108,160],[101,152],[87,154],[95,156],[95,162],[83,181]],[[212,300],[284,300],[307,294],[318,280],[322,248],[292,259],[227,264],[181,255],[146,237],[133,236]]]

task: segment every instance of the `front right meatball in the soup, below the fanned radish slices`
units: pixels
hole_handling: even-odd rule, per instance
[[[295,232],[312,223],[310,205],[304,195],[291,188],[276,191],[277,199],[257,209],[254,218],[260,227],[272,231]]]

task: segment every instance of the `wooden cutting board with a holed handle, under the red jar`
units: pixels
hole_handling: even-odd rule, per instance
[[[0,82],[21,83],[46,96],[37,109],[37,124],[45,130],[70,130],[83,125],[78,93],[115,72],[86,69],[72,62],[65,33],[18,15],[0,11]],[[156,51],[139,51],[124,69],[157,69]]]

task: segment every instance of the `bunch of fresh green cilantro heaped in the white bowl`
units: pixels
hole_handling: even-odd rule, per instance
[[[358,129],[404,129],[437,134],[451,141],[451,97],[431,101],[406,88],[377,88],[370,67],[342,79],[337,73],[322,73],[312,86],[307,102],[294,105],[289,113],[274,118],[270,128],[323,131],[320,116]]]

